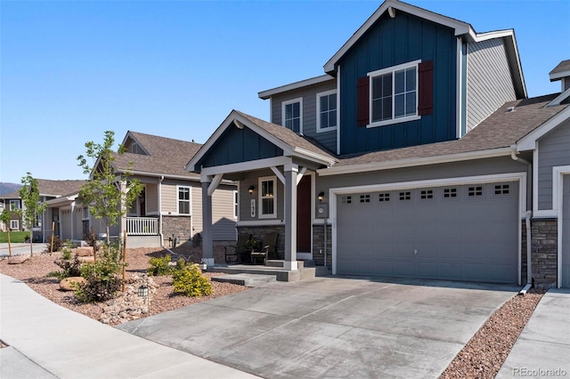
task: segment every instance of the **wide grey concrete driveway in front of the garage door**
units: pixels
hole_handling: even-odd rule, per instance
[[[436,377],[519,287],[314,278],[119,326],[268,378]]]

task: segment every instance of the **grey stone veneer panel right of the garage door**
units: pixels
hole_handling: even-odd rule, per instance
[[[557,286],[558,282],[558,222],[531,222],[531,257],[533,279],[537,286]]]

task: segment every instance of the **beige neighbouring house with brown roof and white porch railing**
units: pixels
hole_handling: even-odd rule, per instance
[[[202,232],[201,186],[199,175],[188,173],[184,165],[198,151],[199,143],[179,141],[151,134],[127,132],[122,144],[126,152],[113,164],[117,173],[128,169],[142,182],[143,190],[126,217],[110,229],[111,236],[126,230],[129,247],[183,244]],[[216,244],[235,241],[237,188],[224,181],[214,196],[213,238]],[[61,214],[61,238],[82,240],[93,228],[102,237],[105,227],[89,214],[78,191],[48,202]],[[198,239],[194,239],[198,243]]]

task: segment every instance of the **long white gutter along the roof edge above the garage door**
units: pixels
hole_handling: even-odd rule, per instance
[[[449,154],[436,157],[419,157],[396,159],[387,162],[373,162],[362,165],[341,165],[317,170],[320,176],[340,175],[345,173],[366,173],[370,171],[391,170],[395,168],[413,167],[418,165],[439,165],[443,163],[459,162],[472,159],[484,159],[490,157],[508,157],[512,149],[499,148],[490,150],[469,151],[467,153]]]

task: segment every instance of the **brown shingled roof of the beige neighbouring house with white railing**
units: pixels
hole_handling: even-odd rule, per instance
[[[184,169],[188,160],[202,146],[196,142],[175,140],[158,135],[127,132],[124,141],[132,138],[149,155],[123,153],[115,156],[114,167],[124,172],[130,165],[133,174],[147,176],[166,176],[179,179],[197,179],[199,175]]]

